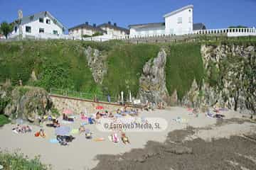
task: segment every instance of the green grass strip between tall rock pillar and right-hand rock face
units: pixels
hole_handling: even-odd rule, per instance
[[[166,47],[166,88],[169,95],[177,90],[181,99],[191,88],[193,79],[199,86],[203,80],[201,45],[196,43],[169,45]]]

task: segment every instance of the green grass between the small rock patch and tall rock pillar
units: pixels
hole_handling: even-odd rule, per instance
[[[104,91],[117,96],[120,91],[137,94],[139,77],[144,64],[157,56],[158,45],[119,45],[110,51],[107,57],[107,75],[103,79]]]

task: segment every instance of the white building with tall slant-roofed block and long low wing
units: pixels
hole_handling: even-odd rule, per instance
[[[130,25],[130,37],[151,35],[184,35],[193,33],[193,5],[164,15],[164,23]]]

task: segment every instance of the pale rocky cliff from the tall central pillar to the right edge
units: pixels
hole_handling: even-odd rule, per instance
[[[208,107],[218,105],[240,113],[256,111],[256,47],[252,45],[201,45],[205,74],[203,83],[194,79],[191,89],[178,100],[166,90],[166,52],[162,49],[146,62],[139,79],[142,102],[164,101],[169,105]],[[168,72],[168,70],[167,70]]]

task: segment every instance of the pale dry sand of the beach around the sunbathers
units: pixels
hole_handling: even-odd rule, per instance
[[[92,169],[97,166],[99,160],[96,156],[99,154],[124,154],[135,148],[144,148],[148,141],[165,142],[169,132],[174,130],[184,130],[188,126],[193,128],[201,128],[195,134],[186,137],[185,140],[195,140],[201,138],[210,142],[212,138],[229,138],[231,136],[240,136],[242,134],[250,134],[256,130],[255,123],[224,123],[223,125],[216,126],[215,118],[208,118],[205,114],[201,113],[196,117],[189,114],[186,108],[171,107],[166,110],[156,111],[142,111],[139,117],[144,118],[164,118],[168,127],[162,132],[127,132],[127,136],[131,144],[124,145],[122,142],[113,143],[107,139],[111,132],[102,132],[98,130],[95,125],[85,125],[93,132],[93,137],[104,137],[105,141],[95,142],[94,140],[86,140],[84,134],[75,134],[75,140],[70,142],[68,146],[60,146],[58,143],[50,143],[50,139],[55,138],[54,128],[43,126],[46,131],[46,138],[34,137],[33,134],[40,129],[39,126],[32,126],[33,132],[26,134],[16,134],[11,131],[15,125],[4,125],[0,128],[0,147],[14,151],[21,149],[21,152],[34,157],[41,155],[41,160],[45,164],[52,164],[53,169]],[[225,115],[225,120],[232,118],[242,119],[240,113],[234,111],[223,111],[221,114]],[[176,122],[174,119],[182,118],[186,121],[182,123]],[[61,123],[61,121],[60,121]],[[82,120],[78,118],[74,123],[65,124],[71,128],[78,129]]]

